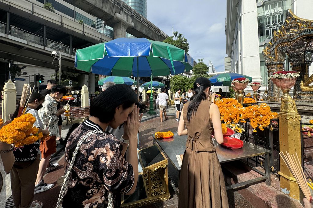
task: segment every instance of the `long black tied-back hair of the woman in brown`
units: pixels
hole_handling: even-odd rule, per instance
[[[205,77],[198,77],[193,83],[193,96],[187,109],[188,122],[190,122],[192,115],[196,114],[201,101],[206,99],[203,91],[208,87],[211,87],[211,82]]]

